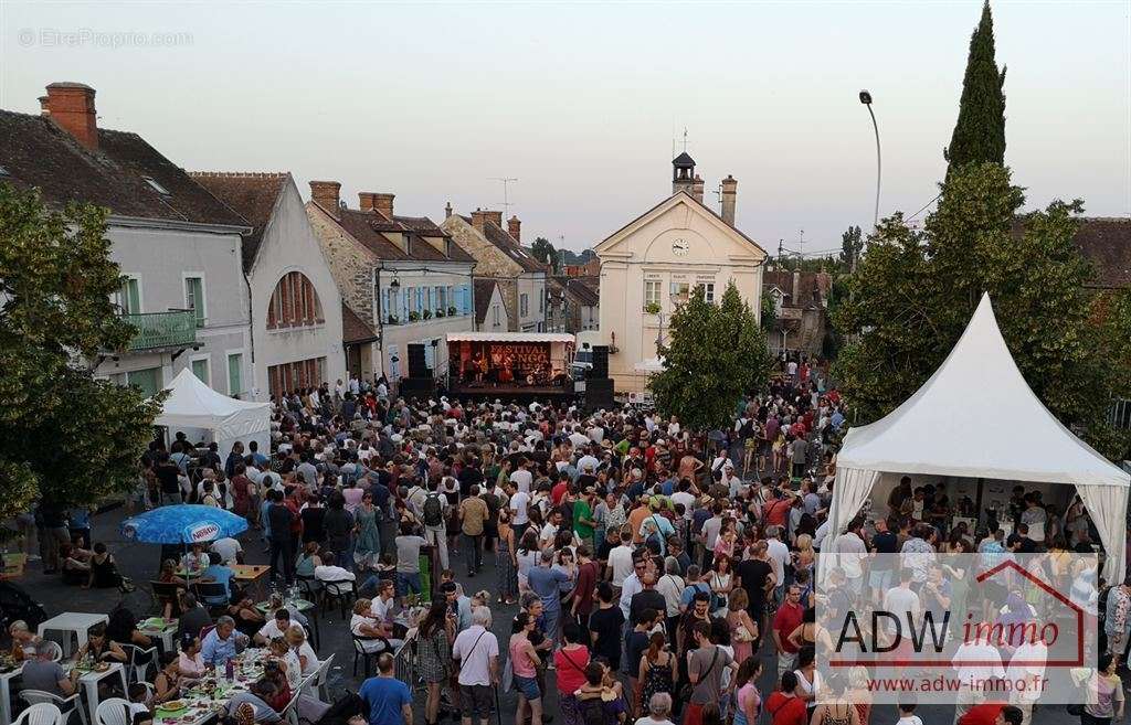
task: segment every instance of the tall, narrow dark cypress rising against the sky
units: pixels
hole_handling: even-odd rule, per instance
[[[949,168],[964,164],[1005,159],[1005,69],[998,71],[994,60],[993,15],[990,1],[982,7],[982,20],[970,36],[970,54],[966,60],[962,98],[958,106],[958,123],[943,156]],[[948,174],[949,174],[948,168]]]

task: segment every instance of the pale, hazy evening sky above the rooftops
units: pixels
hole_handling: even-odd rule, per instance
[[[1005,161],[1027,207],[1131,215],[1131,2],[993,5]],[[0,107],[52,81],[190,171],[290,171],[397,213],[502,209],[579,251],[671,193],[687,150],[775,253],[839,250],[938,193],[978,0],[746,3],[14,2]],[[925,216],[923,212],[920,218]],[[508,215],[509,216],[509,215]]]

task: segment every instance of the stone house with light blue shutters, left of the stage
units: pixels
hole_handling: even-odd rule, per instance
[[[397,381],[409,373],[407,346],[418,343],[433,375],[443,376],[447,334],[475,329],[475,260],[431,219],[394,213],[394,194],[361,192],[349,209],[340,189],[310,182],[307,216],[348,308],[346,366]]]

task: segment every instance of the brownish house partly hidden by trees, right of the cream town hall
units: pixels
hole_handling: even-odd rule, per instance
[[[782,351],[820,355],[829,321],[828,272],[768,270],[762,276],[762,294],[774,300],[774,329],[767,344]]]

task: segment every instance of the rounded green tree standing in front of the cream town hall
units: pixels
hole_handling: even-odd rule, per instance
[[[727,425],[739,399],[767,382],[766,338],[733,281],[717,306],[697,288],[672,316],[668,334],[659,350],[664,372],[648,386],[663,414],[694,430]]]

